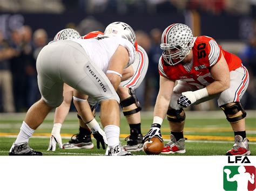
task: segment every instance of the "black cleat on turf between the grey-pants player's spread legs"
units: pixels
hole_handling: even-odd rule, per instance
[[[64,143],[63,148],[74,149],[74,148],[93,148],[92,139],[90,135],[81,136],[79,133],[73,135],[69,143]]]

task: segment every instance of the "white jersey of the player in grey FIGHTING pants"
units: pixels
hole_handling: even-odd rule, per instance
[[[130,66],[135,60],[135,48],[129,40],[120,37],[99,37],[92,39],[72,39],[80,46],[83,47],[89,58],[106,73],[109,61],[116,52],[119,45],[125,47],[129,52],[129,63]]]

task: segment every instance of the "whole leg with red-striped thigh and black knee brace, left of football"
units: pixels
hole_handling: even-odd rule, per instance
[[[130,126],[130,136],[126,138],[126,140],[129,140],[124,146],[127,151],[140,151],[143,149],[143,135],[140,124],[140,110],[142,110],[142,108],[134,94],[134,90],[143,82],[148,66],[149,58],[147,57],[147,53],[141,46],[138,46],[136,59],[132,64],[134,75],[120,82],[117,90],[121,100],[120,105],[122,106],[124,116]]]

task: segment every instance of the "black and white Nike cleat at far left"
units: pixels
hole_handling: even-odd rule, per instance
[[[24,142],[20,144],[12,144],[9,155],[43,155],[42,152],[34,151],[29,144]]]

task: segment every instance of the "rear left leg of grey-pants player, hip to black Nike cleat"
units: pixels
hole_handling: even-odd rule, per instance
[[[58,53],[51,56],[54,50],[56,49],[46,46],[38,56],[38,87],[42,98],[33,104],[26,113],[21,131],[11,147],[9,155],[42,155],[41,152],[33,151],[29,147],[28,141],[51,109],[58,107],[63,100],[63,82],[56,76]]]

